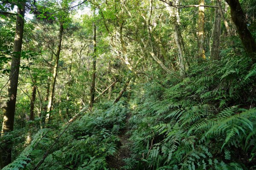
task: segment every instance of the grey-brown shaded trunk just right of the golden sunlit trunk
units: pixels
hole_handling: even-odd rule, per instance
[[[216,1],[216,6],[218,6],[218,1]],[[211,59],[219,59],[219,44],[220,44],[220,35],[221,35],[221,14],[220,8],[215,9],[215,23],[213,28],[213,40],[212,40],[212,52]]]

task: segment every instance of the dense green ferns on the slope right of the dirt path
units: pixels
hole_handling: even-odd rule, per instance
[[[255,169],[256,67],[234,57],[190,68],[135,89],[127,169]]]

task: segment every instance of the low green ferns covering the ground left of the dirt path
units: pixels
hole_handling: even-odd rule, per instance
[[[43,130],[35,135],[34,141],[3,170],[33,169],[44,156],[49,155],[40,170],[101,170],[108,169],[106,158],[113,156],[119,145],[119,130],[124,128],[128,109],[123,102],[99,104],[94,112],[85,114],[71,124],[52,150],[49,147],[64,130]],[[44,135],[47,134],[47,135]],[[43,136],[43,138],[42,138]],[[39,143],[39,144],[37,144]],[[35,146],[35,144],[37,144]],[[36,154],[35,154],[36,152]],[[31,164],[32,163],[32,164]]]

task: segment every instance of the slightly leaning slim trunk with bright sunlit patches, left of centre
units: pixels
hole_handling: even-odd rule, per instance
[[[56,59],[55,59],[55,65],[53,68],[53,75],[52,75],[52,82],[50,85],[50,95],[49,95],[49,101],[48,101],[48,106],[47,106],[47,115],[45,119],[45,123],[48,124],[50,121],[50,111],[52,110],[52,101],[53,101],[53,95],[54,95],[54,88],[55,88],[55,82],[57,78],[57,72],[58,72],[58,61],[60,58],[60,53],[61,53],[61,41],[62,41],[62,34],[63,34],[63,24],[60,24],[60,30],[59,30],[59,35],[58,35],[58,49],[56,53]]]

